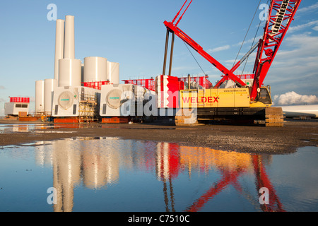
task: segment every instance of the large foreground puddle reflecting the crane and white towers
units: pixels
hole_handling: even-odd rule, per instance
[[[0,211],[317,211],[317,160],[316,147],[254,155],[107,137],[5,146]]]

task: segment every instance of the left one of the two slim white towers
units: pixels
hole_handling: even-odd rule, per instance
[[[57,20],[55,32],[54,79],[59,80],[59,59],[64,57],[64,20]]]

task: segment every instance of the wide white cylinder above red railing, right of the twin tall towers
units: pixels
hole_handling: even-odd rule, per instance
[[[107,59],[103,57],[84,58],[84,83],[107,81]]]

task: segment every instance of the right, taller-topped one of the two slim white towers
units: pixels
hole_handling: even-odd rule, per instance
[[[65,16],[64,59],[75,59],[74,16]]]

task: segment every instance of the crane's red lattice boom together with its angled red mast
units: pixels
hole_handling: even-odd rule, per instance
[[[188,0],[184,2],[182,8],[187,3],[187,1]],[[261,87],[261,85],[263,85],[264,79],[269,71],[273,59],[276,57],[276,53],[278,52],[278,49],[281,46],[281,42],[283,41],[283,38],[285,37],[285,34],[288,31],[291,21],[293,21],[293,18],[295,16],[296,11],[298,10],[301,1],[302,0],[271,0],[271,6],[269,8],[269,20],[267,20],[266,22],[264,36],[259,41],[257,59],[254,64],[255,77],[250,95],[251,100],[256,100],[258,89]],[[191,3],[192,1],[190,1],[189,5]],[[187,8],[189,8],[189,5],[187,6]],[[225,76],[223,76],[219,83],[216,84],[215,88],[219,88],[220,84],[228,80],[228,78],[230,78],[232,81],[235,81],[235,83],[241,86],[245,86],[246,84],[240,78],[237,78],[237,76],[233,74],[237,67],[240,66],[240,62],[237,63],[237,65],[235,65],[231,70],[226,69],[225,66],[223,66],[216,59],[211,57],[207,52],[204,51],[204,49],[199,44],[194,42],[194,40],[192,40],[191,37],[189,37],[186,33],[184,33],[181,29],[177,27],[185,11],[187,11],[187,8],[185,9],[184,13],[182,13],[182,16],[179,18],[177,23],[174,24],[175,20],[179,16],[179,13],[182,11],[182,8],[179,10],[172,22],[164,22],[165,26],[167,27],[167,30],[169,30],[172,33],[175,33],[175,35],[177,35],[184,42],[189,44],[190,47],[196,50],[196,52],[201,54],[202,57],[204,57],[211,64],[213,64],[213,66],[216,66],[218,70],[225,74]],[[279,24],[279,29],[274,33],[272,32],[272,30],[276,27],[277,24]]]

